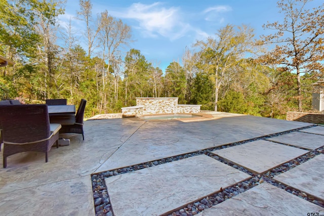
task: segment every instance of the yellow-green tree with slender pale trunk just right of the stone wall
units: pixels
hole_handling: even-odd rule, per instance
[[[207,41],[197,41],[199,47],[201,70],[208,71],[214,77],[214,109],[217,111],[219,90],[231,74],[231,67],[240,65],[245,56],[253,53],[255,42],[253,29],[248,26],[227,25],[221,28],[216,37],[208,37]]]

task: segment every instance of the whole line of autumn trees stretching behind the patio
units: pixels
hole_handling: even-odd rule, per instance
[[[89,117],[120,112],[136,97],[178,97],[204,110],[284,118],[289,110],[312,109],[311,83],[323,72],[323,6],[307,11],[307,1],[278,3],[287,19],[264,26],[275,34],[257,40],[251,27],[227,25],[186,48],[182,63],[171,62],[165,72],[139,50],[123,56],[131,27],[107,11],[93,20],[91,1],[79,1],[77,14],[87,48],[71,21],[59,28],[60,1],[1,2],[0,55],[16,62],[0,68],[1,99],[84,98]]]

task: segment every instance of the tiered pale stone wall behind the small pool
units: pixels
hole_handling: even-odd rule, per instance
[[[198,113],[201,105],[178,105],[178,98],[136,98],[136,105],[121,108],[123,117],[152,114]]]

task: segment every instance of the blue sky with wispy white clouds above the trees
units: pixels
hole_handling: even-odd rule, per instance
[[[322,0],[315,0],[314,4]],[[108,14],[131,26],[134,40],[125,48],[140,50],[146,60],[163,71],[173,62],[181,64],[187,48],[197,40],[215,37],[215,33],[227,24],[249,25],[255,29],[255,37],[275,33],[262,25],[283,19],[278,13],[276,0],[92,0],[92,17],[105,10]],[[85,50],[85,23],[75,19],[79,11],[77,0],[67,0],[65,14],[59,16],[64,27],[71,19],[79,44]]]

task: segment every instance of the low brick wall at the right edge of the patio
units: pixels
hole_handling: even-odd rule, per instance
[[[320,113],[308,112],[287,112],[287,120],[301,121],[314,124],[324,124],[324,115]]]

